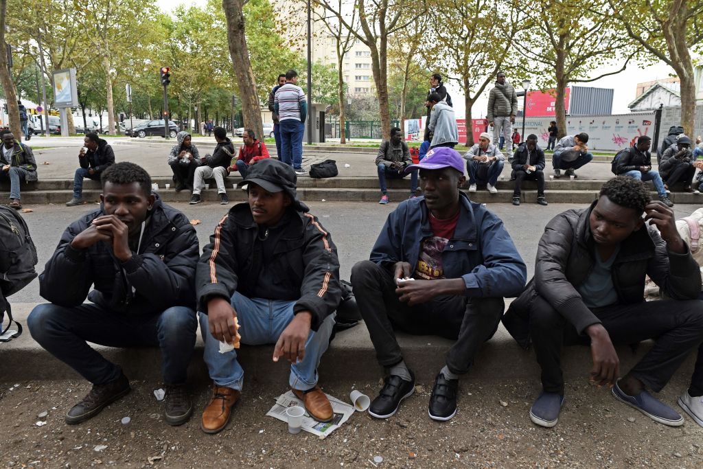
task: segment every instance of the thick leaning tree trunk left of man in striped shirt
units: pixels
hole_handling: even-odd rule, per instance
[[[242,119],[244,127],[248,127],[257,135],[264,134],[262,124],[262,111],[259,107],[259,96],[257,96],[257,84],[254,78],[254,71],[249,60],[249,50],[247,49],[247,39],[244,31],[244,15],[242,12],[245,1],[243,0],[222,0],[222,9],[227,20],[227,41],[229,54],[234,65],[234,72],[237,76],[239,95],[242,101]],[[311,96],[308,105],[312,105]]]

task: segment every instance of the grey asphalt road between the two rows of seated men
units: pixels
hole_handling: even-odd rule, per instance
[[[188,205],[173,204],[189,219],[199,219],[195,226],[200,240],[200,248],[209,242],[209,236],[214,226],[228,210],[215,203]],[[342,203],[342,202],[308,202],[311,213],[315,214],[325,226],[335,244],[340,257],[341,276],[349,278],[354,263],[368,259],[380,229],[387,215],[397,206],[395,203],[378,205],[378,203]],[[37,272],[44,269],[44,264],[53,254],[61,233],[72,221],[98,208],[98,205],[82,205],[65,207],[63,205],[27,205],[33,210],[23,214],[34,244],[37,245],[39,264]],[[580,205],[553,203],[547,207],[536,204],[523,204],[515,207],[510,204],[496,203],[489,206],[505,222],[505,226],[517,246],[517,250],[527,263],[528,277],[534,271],[534,257],[537,243],[545,224],[556,214],[565,210],[579,208]],[[681,218],[697,210],[695,205],[676,205],[676,217]],[[10,298],[11,302],[42,302],[39,296],[39,282],[32,281],[30,285]]]

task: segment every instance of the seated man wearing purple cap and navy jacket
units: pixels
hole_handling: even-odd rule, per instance
[[[527,270],[503,221],[459,191],[466,178],[456,150],[433,148],[417,165],[423,197],[388,215],[370,260],[352,269],[352,286],[379,364],[382,390],[368,409],[388,418],[415,390],[394,330],[456,340],[434,380],[430,418],[456,414],[460,375],[498,328],[503,297],[520,293]]]

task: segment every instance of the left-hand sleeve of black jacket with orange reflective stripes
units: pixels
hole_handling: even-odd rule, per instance
[[[231,221],[225,215],[210,236],[210,243],[202,250],[195,274],[198,309],[207,314],[207,302],[214,297],[229,300],[237,289],[237,259],[233,255],[236,231],[230,229]]]

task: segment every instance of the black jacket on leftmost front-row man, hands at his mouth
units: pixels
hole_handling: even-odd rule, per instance
[[[188,218],[157,196],[141,248],[129,261],[120,262],[105,243],[85,250],[70,246],[78,233],[103,214],[102,209],[95,210],[64,231],[39,276],[41,297],[75,307],[87,296],[109,311],[126,314],[157,314],[174,306],[194,308],[198,237]],[[91,285],[95,289],[89,294]]]

